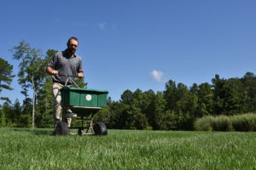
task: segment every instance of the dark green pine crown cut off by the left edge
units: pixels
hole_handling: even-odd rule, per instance
[[[15,75],[12,75],[12,72],[13,65],[9,65],[8,61],[0,58],[0,93],[3,88],[8,90],[13,89],[10,88],[10,83],[13,81],[13,77],[15,77]],[[9,103],[11,103],[7,97],[1,97],[0,99],[7,100]]]

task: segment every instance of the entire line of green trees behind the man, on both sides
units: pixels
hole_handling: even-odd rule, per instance
[[[0,95],[5,100],[0,105],[0,126],[8,127],[52,127],[53,99],[51,77],[45,67],[55,50],[46,54],[29,43],[21,41],[10,51],[20,61],[18,82],[25,99],[15,103],[1,93],[12,90],[10,83],[15,75],[13,65],[0,58]],[[86,88],[84,79],[77,80]],[[32,90],[33,95],[28,92]],[[215,75],[212,83],[194,83],[187,87],[182,82],[169,80],[164,91],[134,92],[127,89],[119,101],[108,97],[106,108],[96,114],[95,120],[117,129],[193,130],[193,123],[202,116],[238,115],[254,112],[256,109],[256,77],[247,72],[244,77],[225,79]],[[76,123],[76,122],[73,122]]]

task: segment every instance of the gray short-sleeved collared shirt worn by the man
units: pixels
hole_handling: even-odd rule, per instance
[[[59,75],[77,75],[79,72],[83,72],[82,59],[78,54],[74,54],[69,57],[67,51],[57,52],[50,59],[48,66],[53,70],[58,71]],[[61,82],[65,84],[67,77],[58,76],[52,77],[53,82]],[[71,81],[68,84],[73,84]]]

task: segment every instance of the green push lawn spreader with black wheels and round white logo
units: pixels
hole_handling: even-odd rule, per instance
[[[107,105],[108,91],[79,88],[78,84],[68,75],[59,75],[67,77],[65,86],[61,88],[61,116],[62,121],[58,122],[55,127],[55,135],[107,135],[108,129],[104,122],[93,122],[96,113]],[[67,82],[73,82],[77,88],[67,86]],[[80,123],[79,127],[67,126],[67,110],[77,114],[73,121]],[[78,129],[78,133],[71,133],[70,129]]]

